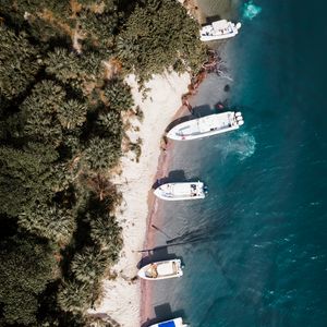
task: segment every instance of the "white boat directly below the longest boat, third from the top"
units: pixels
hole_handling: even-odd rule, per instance
[[[203,182],[166,183],[155,190],[155,195],[161,199],[180,201],[205,198]]]

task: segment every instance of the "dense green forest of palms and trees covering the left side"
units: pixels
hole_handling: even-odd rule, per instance
[[[197,35],[174,0],[0,1],[0,326],[92,324],[122,247],[124,77],[196,72]]]

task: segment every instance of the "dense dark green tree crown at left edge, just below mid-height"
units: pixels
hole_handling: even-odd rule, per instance
[[[57,181],[49,165],[58,154],[41,144],[26,150],[0,148],[0,210],[16,216],[35,203],[47,202]]]

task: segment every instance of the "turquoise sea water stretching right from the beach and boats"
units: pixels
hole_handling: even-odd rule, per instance
[[[156,244],[172,246],[156,253],[185,269],[154,284],[150,318],[327,326],[327,2],[254,3],[252,20],[240,3],[242,29],[223,48],[233,82],[210,75],[193,99],[207,111],[228,100],[245,124],[173,150],[171,177],[201,178],[209,194],[159,203]]]

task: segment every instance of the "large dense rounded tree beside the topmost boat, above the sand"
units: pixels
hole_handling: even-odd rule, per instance
[[[118,53],[124,66],[143,78],[171,66],[196,70],[205,58],[198,29],[178,1],[145,1],[118,36]]]

